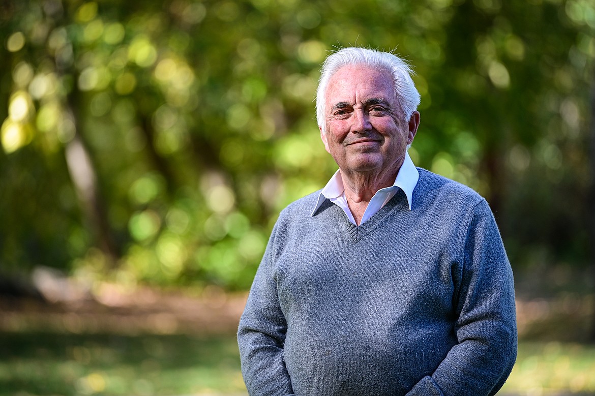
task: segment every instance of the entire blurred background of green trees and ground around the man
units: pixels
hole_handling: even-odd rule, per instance
[[[245,393],[245,291],[336,170],[314,93],[349,45],[414,65],[415,164],[496,215],[501,394],[595,395],[593,1],[7,0],[0,33],[0,395]]]

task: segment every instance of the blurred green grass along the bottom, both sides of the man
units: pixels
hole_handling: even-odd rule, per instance
[[[0,333],[0,396],[245,395],[234,337]],[[521,342],[502,395],[595,395],[595,345]]]

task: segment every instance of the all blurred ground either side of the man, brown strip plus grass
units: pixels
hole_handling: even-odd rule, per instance
[[[595,395],[588,279],[518,279],[519,354],[500,396]],[[83,299],[0,299],[0,396],[246,395],[235,338],[245,299],[107,284]]]

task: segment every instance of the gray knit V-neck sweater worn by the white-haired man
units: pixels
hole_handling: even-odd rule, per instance
[[[418,168],[356,227],[318,192],[281,212],[240,320],[250,395],[496,394],[516,359],[511,266],[486,201]]]

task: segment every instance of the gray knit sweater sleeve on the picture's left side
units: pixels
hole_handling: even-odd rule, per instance
[[[287,322],[273,273],[276,231],[277,225],[256,272],[237,332],[242,375],[250,396],[293,395],[283,360]]]

